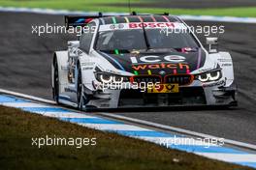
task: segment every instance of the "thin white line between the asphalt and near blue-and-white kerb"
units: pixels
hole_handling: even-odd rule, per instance
[[[37,101],[41,101],[41,102],[45,102],[45,103],[49,103],[49,104],[52,104],[52,103],[56,104],[52,100],[41,99],[41,98],[37,98],[37,97],[29,96],[29,95],[24,95],[24,94],[12,92],[12,91],[7,91],[7,90],[3,90],[3,89],[0,89],[0,93],[7,94],[7,95],[14,95],[16,97],[25,98],[25,99],[37,100]],[[65,107],[60,107],[60,108],[65,108]],[[68,109],[68,108],[65,108],[65,109]],[[46,114],[45,112],[39,112],[39,113]],[[52,112],[52,114],[53,114],[53,112]],[[55,112],[54,112],[54,114],[55,114]],[[171,131],[176,131],[178,133],[189,134],[189,135],[192,135],[192,136],[197,136],[197,137],[202,137],[202,138],[220,138],[220,137],[216,137],[216,136],[212,136],[212,135],[208,135],[208,134],[204,134],[204,133],[200,133],[200,132],[195,132],[195,131],[192,131],[192,130],[165,126],[165,125],[152,123],[152,122],[148,122],[148,121],[144,121],[144,120],[139,120],[139,119],[135,119],[135,118],[128,118],[128,117],[125,117],[125,116],[115,115],[115,114],[112,114],[112,113],[97,112],[96,114],[111,117],[111,118],[116,119],[116,120],[128,121],[128,122],[131,122],[131,123],[137,123],[137,124],[140,124],[140,125],[143,125],[143,126],[149,126],[149,127],[152,127],[152,128],[168,129],[168,130],[171,130]],[[235,141],[235,140],[230,140],[230,139],[224,139],[224,142],[225,142],[225,144],[231,144],[231,145],[234,145],[234,146],[237,146],[237,147],[256,150],[256,145],[253,145],[253,144],[247,144],[247,143],[243,143],[243,142]]]

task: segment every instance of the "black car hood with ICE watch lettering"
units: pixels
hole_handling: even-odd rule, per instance
[[[98,51],[117,70],[134,74],[190,73],[202,68],[206,52],[202,48],[180,50],[148,50],[140,53],[113,54]]]

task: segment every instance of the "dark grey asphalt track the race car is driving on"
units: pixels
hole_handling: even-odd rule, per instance
[[[31,25],[63,24],[63,16],[0,13],[0,88],[51,99],[50,64],[54,50],[66,48],[71,35],[32,34]],[[212,22],[187,22],[211,25]],[[115,114],[256,144],[256,25],[225,26],[220,47],[231,52],[240,88],[239,107],[230,110],[140,110]],[[200,36],[204,40],[204,36]]]

